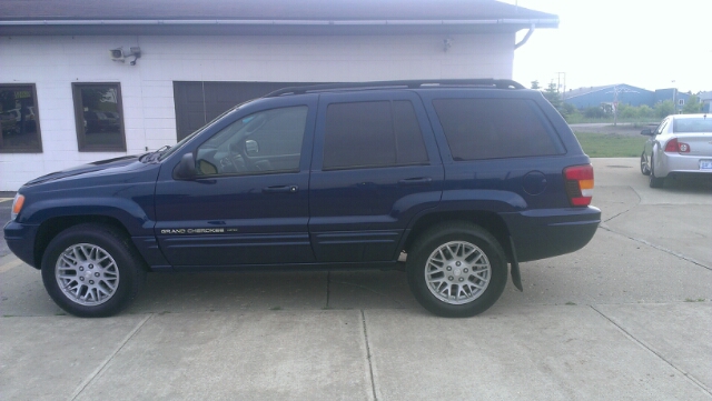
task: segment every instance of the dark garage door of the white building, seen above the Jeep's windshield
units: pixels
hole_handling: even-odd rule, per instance
[[[312,83],[174,81],[178,140],[212,121],[225,110],[277,89]]]

